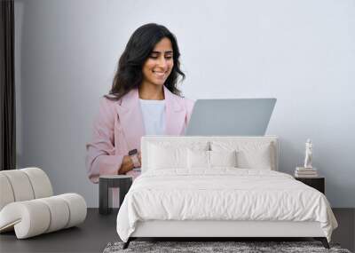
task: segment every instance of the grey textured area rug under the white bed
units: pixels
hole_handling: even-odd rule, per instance
[[[341,249],[339,244],[330,243],[330,249],[325,249],[320,241],[131,241],[128,249],[122,249],[123,242],[110,242],[104,253],[128,252],[336,252],[351,253]]]

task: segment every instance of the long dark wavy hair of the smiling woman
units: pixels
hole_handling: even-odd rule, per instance
[[[163,38],[170,39],[174,61],[174,66],[164,85],[172,93],[178,96],[181,95],[181,91],[177,89],[177,79],[181,75],[182,80],[184,80],[185,74],[180,69],[180,51],[177,46],[177,38],[168,28],[151,23],[141,26],[130,36],[130,40],[118,61],[111,91],[109,91],[109,95],[105,96],[107,99],[121,99],[129,91],[141,85],[143,81],[143,65],[154,50],[155,45]]]

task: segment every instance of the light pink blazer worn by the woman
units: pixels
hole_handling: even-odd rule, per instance
[[[171,93],[164,86],[166,135],[183,135],[193,111],[193,100]],[[93,183],[99,175],[117,174],[124,155],[131,149],[140,151],[140,138],[145,135],[138,90],[134,89],[112,101],[102,98],[95,118],[92,141],[86,145],[86,169]],[[131,171],[130,171],[131,172]]]

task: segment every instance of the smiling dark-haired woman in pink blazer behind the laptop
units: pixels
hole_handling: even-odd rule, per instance
[[[140,166],[140,138],[181,135],[190,120],[193,101],[180,97],[176,37],[157,24],[146,24],[130,37],[118,62],[109,95],[100,100],[86,167],[92,182],[99,175],[129,174]],[[138,150],[138,161],[129,152]]]

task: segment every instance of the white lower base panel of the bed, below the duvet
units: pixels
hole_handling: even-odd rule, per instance
[[[171,221],[138,222],[131,237],[324,237],[319,222]]]

